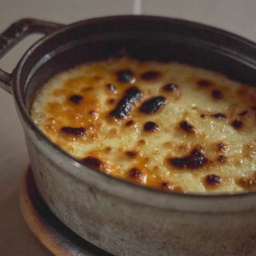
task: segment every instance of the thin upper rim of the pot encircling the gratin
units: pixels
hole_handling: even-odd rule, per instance
[[[44,44],[45,42],[47,42],[50,38],[54,37],[55,35],[57,35],[58,33],[62,33],[65,32],[67,30],[70,30],[72,28],[75,27],[79,27],[81,25],[90,25],[92,23],[101,23],[101,22],[108,22],[108,20],[113,20],[113,19],[143,19],[143,20],[152,20],[152,19],[156,19],[156,20],[163,20],[165,22],[172,22],[172,23],[176,23],[176,24],[183,24],[186,26],[190,26],[190,27],[194,27],[194,28],[199,28],[199,29],[205,29],[214,33],[218,33],[218,34],[223,34],[225,36],[234,38],[236,40],[239,40],[241,42],[243,42],[244,44],[247,44],[253,48],[256,48],[256,44],[253,41],[250,41],[248,39],[245,39],[239,35],[227,32],[225,30],[222,29],[218,29],[215,27],[211,27],[208,25],[204,25],[201,23],[197,23],[197,22],[190,22],[188,20],[184,20],[184,19],[177,19],[177,18],[170,18],[170,17],[161,17],[161,16],[152,16],[152,15],[121,15],[121,16],[106,16],[106,17],[99,17],[99,18],[90,18],[87,20],[82,20],[76,23],[72,23],[69,24],[67,26],[63,26],[59,29],[57,29],[56,31],[42,37],[41,39],[39,39],[38,41],[35,42],[35,44],[33,44],[23,55],[23,57],[19,60],[16,68],[13,71],[13,77],[12,77],[12,88],[13,88],[13,97],[15,100],[15,104],[16,104],[16,108],[19,112],[19,117],[20,119],[22,119],[23,121],[25,121],[25,124],[29,127],[29,130],[35,134],[35,136],[37,138],[39,138],[39,140],[43,141],[45,143],[45,145],[51,147],[53,150],[57,151],[59,155],[61,155],[62,158],[67,159],[67,161],[69,161],[71,163],[71,165],[73,165],[73,167],[78,168],[81,172],[90,172],[93,173],[94,177],[97,177],[99,179],[102,179],[108,183],[108,181],[111,182],[111,184],[116,183],[119,184],[123,187],[123,189],[132,189],[135,190],[136,193],[140,193],[140,192],[144,192],[144,193],[149,193],[148,195],[150,196],[154,196],[154,195],[158,195],[158,197],[169,197],[169,200],[172,200],[172,198],[176,198],[176,199],[182,199],[182,198],[186,198],[186,199],[195,199],[195,200],[210,200],[210,203],[214,203],[216,201],[220,201],[220,200],[227,200],[227,199],[232,199],[232,201],[236,201],[238,199],[243,199],[243,198],[255,198],[256,197],[256,191],[248,191],[245,193],[234,193],[234,194],[199,194],[199,193],[176,193],[174,191],[164,191],[164,190],[160,190],[157,188],[152,188],[152,187],[147,187],[147,186],[140,186],[137,184],[134,184],[132,182],[126,181],[126,180],[122,180],[110,175],[107,175],[103,172],[99,172],[98,170],[88,167],[84,164],[79,163],[78,160],[76,160],[74,157],[72,157],[71,155],[69,155],[68,153],[66,153],[65,151],[63,151],[60,147],[58,147],[55,143],[53,143],[50,139],[48,139],[37,127],[37,125],[35,124],[35,122],[32,120],[32,118],[29,115],[29,112],[26,110],[26,106],[25,103],[23,102],[23,97],[22,94],[20,92],[19,89],[19,82],[20,82],[20,74],[22,74],[22,70],[23,70],[23,66],[24,63],[26,62],[26,60],[28,59],[28,57],[30,55],[33,54],[33,52],[35,51],[35,49],[37,49],[40,45]],[[63,172],[67,172],[68,174],[70,174],[71,176],[73,176],[74,178],[76,178],[77,180],[79,180],[82,183],[87,183],[86,178],[84,178],[84,176],[78,175],[78,173],[73,172],[73,169],[68,169],[68,168],[62,168]],[[99,187],[99,189],[102,189],[101,187]],[[112,193],[111,193],[112,194]],[[143,194],[143,193],[142,193]],[[118,194],[116,196],[123,196],[122,193]],[[134,198],[129,197],[129,200],[131,201],[140,201],[143,204],[147,205],[147,202],[145,202],[144,200],[134,200]],[[150,205],[152,205],[150,203]],[[159,206],[159,205],[154,205],[154,206]],[[164,207],[164,206],[162,206]],[[224,209],[225,208],[225,209]],[[230,207],[224,207],[222,209],[219,209],[221,211],[229,211],[232,210]],[[248,208],[249,210],[251,209],[251,207]],[[248,210],[248,209],[242,209],[242,210]],[[187,209],[185,209],[187,210]],[[219,211],[218,210],[218,211]],[[199,211],[201,211],[199,209]],[[203,210],[202,210],[203,211]],[[212,211],[212,209],[210,210]],[[215,210],[213,210],[215,211]],[[217,210],[216,210],[217,211]]]

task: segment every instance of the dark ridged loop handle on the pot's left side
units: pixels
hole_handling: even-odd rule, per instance
[[[32,33],[50,34],[65,25],[25,18],[13,23],[0,35],[0,59],[20,40]],[[12,74],[0,69],[0,87],[12,94]]]

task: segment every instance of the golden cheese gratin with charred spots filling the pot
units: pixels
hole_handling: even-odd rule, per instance
[[[184,63],[86,63],[42,86],[31,116],[81,163],[180,193],[256,189],[256,88]]]

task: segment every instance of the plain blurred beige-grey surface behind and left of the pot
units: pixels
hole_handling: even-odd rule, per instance
[[[256,0],[1,0],[0,31],[24,17],[70,24],[90,17],[151,14],[195,20],[256,41]],[[0,60],[11,72],[26,49],[40,36],[32,35]],[[12,96],[0,90],[0,255],[51,255],[34,238],[19,209],[20,178],[29,166],[22,126]]]

